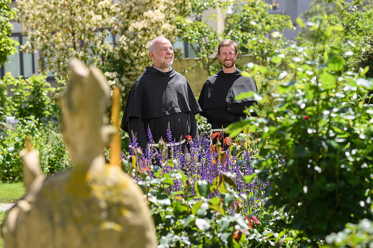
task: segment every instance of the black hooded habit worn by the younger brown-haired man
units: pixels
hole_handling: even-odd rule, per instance
[[[240,93],[256,91],[254,79],[241,76],[240,70],[236,69],[234,73],[220,70],[203,84],[198,99],[201,115],[207,118],[213,129],[225,128],[245,117],[243,110],[256,103],[252,97],[243,100],[236,100],[235,97]]]

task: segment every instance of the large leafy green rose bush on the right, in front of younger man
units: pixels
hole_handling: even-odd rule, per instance
[[[322,19],[308,24],[325,42],[340,31]],[[272,182],[268,206],[286,206],[293,218],[282,226],[313,240],[368,217],[373,189],[373,109],[361,98],[373,82],[364,78],[366,71],[343,71],[339,47],[319,54],[318,46],[293,45],[279,51],[271,67],[251,68],[249,74],[291,79],[277,88],[262,82],[254,98],[263,108],[252,107],[260,117],[229,127],[233,135],[242,127],[260,135],[260,156],[253,164]],[[288,71],[278,69],[281,63]]]

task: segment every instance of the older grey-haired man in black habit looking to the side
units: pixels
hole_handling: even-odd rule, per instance
[[[186,78],[176,72],[173,49],[164,36],[154,38],[149,44],[152,66],[132,85],[124,109],[121,128],[131,140],[136,135],[138,145],[144,149],[149,143],[148,128],[153,142],[167,138],[167,129],[176,141],[188,135],[198,137],[194,115],[201,111]]]

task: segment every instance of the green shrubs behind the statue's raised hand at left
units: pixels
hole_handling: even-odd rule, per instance
[[[58,131],[60,108],[54,100],[55,89],[45,75],[30,78],[14,78],[9,73],[0,80],[1,111],[3,123],[0,130],[0,182],[22,179],[22,163],[18,155],[24,149],[26,135],[33,139],[34,149],[39,151],[44,174],[71,168],[66,144]],[[10,89],[12,94],[7,95]],[[5,116],[14,116],[15,126],[4,124]]]

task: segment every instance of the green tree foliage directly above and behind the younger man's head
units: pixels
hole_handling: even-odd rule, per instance
[[[179,16],[175,25],[180,40],[196,45],[192,47],[198,54],[198,64],[208,75],[217,72],[220,65],[217,62],[217,47],[221,40],[232,39],[237,42],[240,54],[251,56],[261,64],[266,64],[276,49],[286,43],[281,31],[293,29],[289,16],[270,14],[271,5],[262,0],[206,2],[226,12],[226,26],[220,33],[208,24],[209,19],[216,20],[216,16],[202,18],[202,11],[193,16]],[[199,50],[197,49],[199,48]]]

